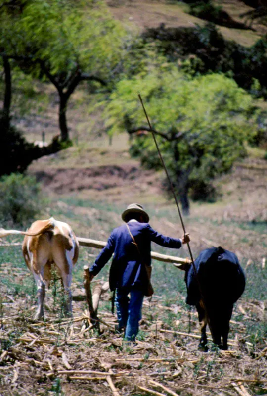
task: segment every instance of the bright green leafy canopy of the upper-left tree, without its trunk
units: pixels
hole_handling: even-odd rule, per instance
[[[49,62],[52,74],[75,67],[108,73],[121,57],[124,35],[104,1],[27,0],[21,13],[3,8],[0,16],[4,52]]]

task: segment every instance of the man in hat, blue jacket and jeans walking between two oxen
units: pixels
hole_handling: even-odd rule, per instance
[[[138,333],[144,295],[148,294],[151,270],[151,241],[158,245],[179,249],[190,241],[189,234],[182,239],[166,237],[153,230],[149,216],[139,204],[132,203],[122,213],[125,225],[115,228],[107,245],[90,267],[91,279],[98,274],[114,253],[110,273],[110,290],[116,290],[116,309],[119,330],[127,341],[134,341]],[[128,295],[130,294],[130,299]]]

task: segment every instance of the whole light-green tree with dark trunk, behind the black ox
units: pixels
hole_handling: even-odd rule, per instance
[[[189,213],[192,184],[207,183],[227,172],[245,154],[244,142],[253,135],[248,122],[252,98],[223,74],[190,78],[176,66],[163,63],[149,74],[122,80],[106,107],[110,134],[145,131],[134,138],[131,153],[148,168],[161,167],[144,123],[137,94],[147,107],[158,145],[177,189],[183,213]]]

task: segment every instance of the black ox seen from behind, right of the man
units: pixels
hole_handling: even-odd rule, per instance
[[[207,351],[206,326],[213,342],[227,350],[233,304],[245,289],[245,275],[236,255],[222,247],[203,250],[185,273],[186,303],[195,305],[201,328],[199,348]],[[199,287],[200,286],[200,287]],[[204,300],[204,304],[203,304]]]

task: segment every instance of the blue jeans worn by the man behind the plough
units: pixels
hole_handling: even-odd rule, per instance
[[[140,290],[132,289],[130,298],[127,292],[116,290],[115,304],[120,328],[125,328],[124,337],[134,341],[139,329],[139,320],[142,318],[144,294]]]

